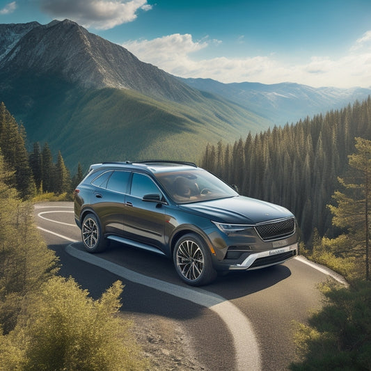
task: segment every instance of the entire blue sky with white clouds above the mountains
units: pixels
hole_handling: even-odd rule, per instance
[[[0,0],[0,23],[65,18],[177,76],[371,87],[370,0]]]

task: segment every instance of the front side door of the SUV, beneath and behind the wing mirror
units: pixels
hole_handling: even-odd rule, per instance
[[[162,193],[148,175],[133,173],[129,194],[125,198],[125,236],[136,241],[156,246],[164,251],[165,205],[143,200],[146,194]]]

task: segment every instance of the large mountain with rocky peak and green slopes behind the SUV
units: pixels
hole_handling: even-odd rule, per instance
[[[0,101],[65,163],[161,157],[197,161],[208,142],[270,125],[200,92],[65,19],[1,25]]]

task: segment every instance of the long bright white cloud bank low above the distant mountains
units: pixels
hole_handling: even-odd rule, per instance
[[[164,36],[154,40],[126,42],[129,49],[142,61],[157,65],[162,70],[180,77],[203,77],[224,83],[258,81],[277,84],[284,81],[309,86],[371,86],[371,31],[356,40],[354,47],[341,58],[313,56],[306,63],[280,61],[276,56],[246,58],[198,59],[197,52],[207,50],[210,40],[194,41],[189,34]]]

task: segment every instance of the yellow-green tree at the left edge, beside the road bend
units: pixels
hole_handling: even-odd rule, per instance
[[[0,326],[6,332],[14,328],[26,294],[56,271],[56,256],[33,225],[33,205],[6,184],[11,175],[0,155]]]

